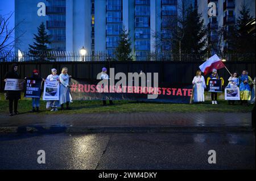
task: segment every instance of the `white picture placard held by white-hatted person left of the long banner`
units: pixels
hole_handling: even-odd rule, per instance
[[[58,81],[44,82],[43,100],[59,100],[60,83]]]

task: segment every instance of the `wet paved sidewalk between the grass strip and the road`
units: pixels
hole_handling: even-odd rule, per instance
[[[9,117],[0,132],[251,131],[251,113],[85,113]]]

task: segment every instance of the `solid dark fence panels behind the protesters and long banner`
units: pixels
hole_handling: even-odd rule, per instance
[[[3,91],[3,78],[10,70],[12,62],[0,62],[0,91]],[[122,72],[139,73],[158,73],[159,82],[169,83],[191,83],[196,71],[199,70],[201,61],[85,61],[85,62],[16,62],[18,64],[18,73],[22,78],[30,77],[34,69],[38,69],[40,76],[46,78],[51,74],[51,69],[56,68],[58,73],[65,66],[68,68],[69,75],[73,78],[97,79],[97,74],[103,67],[114,68],[115,73]],[[226,61],[225,66],[231,71],[237,71],[238,75],[242,70],[248,70],[251,78],[255,77],[254,61]],[[226,69],[218,70],[220,77],[228,83],[230,74]],[[207,78],[206,75],[205,78]]]

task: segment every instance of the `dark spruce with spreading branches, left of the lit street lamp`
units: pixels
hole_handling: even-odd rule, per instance
[[[40,24],[38,27],[38,34],[34,34],[34,36],[35,42],[33,45],[29,45],[29,52],[34,56],[42,57],[43,54],[51,50],[48,48],[48,45],[51,44],[51,36],[46,32],[46,26],[44,26],[44,23]]]

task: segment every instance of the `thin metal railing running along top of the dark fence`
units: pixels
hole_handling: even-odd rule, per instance
[[[165,53],[143,53],[143,55],[131,54],[130,61],[204,61],[208,57],[201,54],[174,54],[170,52]],[[246,54],[226,54],[224,57],[227,61],[255,61],[255,53]],[[89,53],[81,56],[77,52],[45,52],[37,55],[32,55],[27,52],[0,52],[0,62],[82,62],[82,61],[118,61],[120,58],[115,54],[108,54],[106,52]]]

